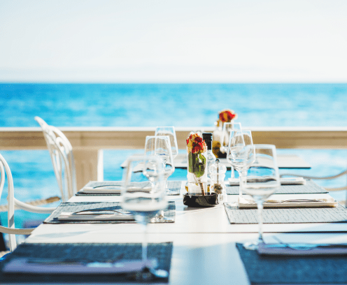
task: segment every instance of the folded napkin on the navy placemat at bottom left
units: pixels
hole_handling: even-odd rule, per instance
[[[36,274],[122,274],[141,271],[145,266],[155,268],[156,259],[147,262],[118,261],[115,263],[83,263],[79,261],[64,261],[57,258],[14,258],[3,267],[7,273],[36,273]]]

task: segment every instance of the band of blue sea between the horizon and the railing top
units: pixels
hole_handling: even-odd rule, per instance
[[[0,84],[0,126],[347,126],[347,84]]]

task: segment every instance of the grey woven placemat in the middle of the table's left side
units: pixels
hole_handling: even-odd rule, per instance
[[[120,202],[66,202],[62,203],[50,216],[43,221],[45,224],[120,224],[135,223],[135,221],[59,221],[59,214],[62,212],[78,212],[82,210],[104,209],[104,210],[121,210]],[[167,209],[164,210],[164,219],[157,221],[158,223],[175,221],[176,205],[174,201],[169,201]]]

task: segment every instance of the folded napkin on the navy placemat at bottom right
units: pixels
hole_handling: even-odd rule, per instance
[[[332,256],[347,255],[347,244],[264,244],[258,254],[268,256]]]

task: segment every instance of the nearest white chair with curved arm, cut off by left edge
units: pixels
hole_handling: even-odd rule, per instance
[[[10,167],[8,163],[0,154],[0,196],[3,191],[3,185],[5,184],[5,176],[7,177],[8,184],[8,226],[0,226],[0,233],[8,233],[10,242],[10,251],[13,251],[17,247],[15,241],[15,235],[30,235],[34,228],[15,228],[15,206],[20,207],[22,210],[27,210],[28,212],[50,214],[56,207],[36,207],[23,203],[15,198],[14,188],[13,188],[13,178],[10,172]]]

